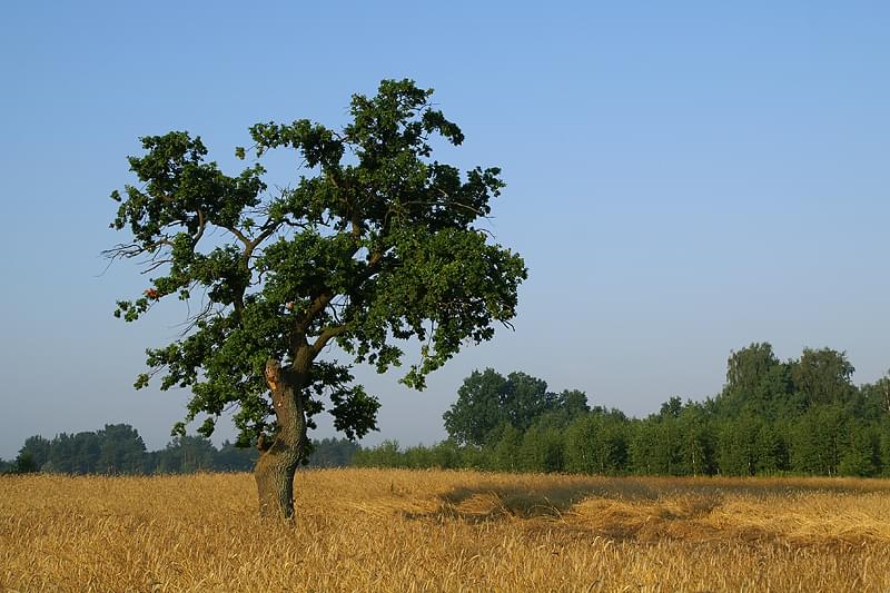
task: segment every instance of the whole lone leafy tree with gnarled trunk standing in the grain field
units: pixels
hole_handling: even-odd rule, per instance
[[[237,408],[238,444],[261,452],[254,474],[264,515],[293,516],[315,415],[327,409],[350,438],[376,429],[379,403],[353,383],[353,363],[384,373],[417,344],[400,380],[423,389],[463,344],[491,339],[515,316],[524,263],[476,226],[504,187],[501,171],[462,175],[431,159],[434,135],[464,139],[433,109],[432,92],[384,80],[376,97],[353,96],[340,131],[305,119],[257,123],[256,161],[234,177],[205,160],[199,137],[145,137],[145,154],[128,159],[141,185],[111,194],[120,202],[111,227],[132,240],[106,255],[158,274],[115,315],[132,322],[168,296],[191,303],[187,329],[147,350],[151,372],[136,387],[159,374],[161,389],[191,389],[174,434],[207,414],[198,432],[210,435]],[[260,159],[271,149],[296,152],[304,175],[291,187],[264,182]],[[247,152],[235,149],[243,160]],[[333,343],[349,364],[333,358]]]

